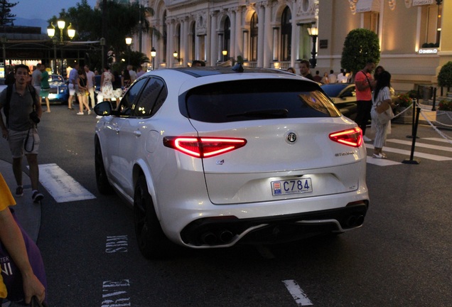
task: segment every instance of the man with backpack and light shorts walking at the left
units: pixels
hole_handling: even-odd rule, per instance
[[[9,96],[8,89],[0,94],[0,109],[4,109],[6,117],[5,125],[3,118],[0,116],[0,126],[4,139],[9,141],[9,148],[13,156],[13,173],[17,183],[16,196],[23,196],[22,158],[25,151],[31,179],[31,198],[33,202],[37,203],[44,198],[44,195],[38,191],[38,150],[40,139],[37,129],[43,109],[41,108],[41,99],[39,99],[36,90],[27,86],[29,75],[30,68],[27,65],[16,65],[14,75],[16,83],[9,85],[11,90],[10,101],[6,102]]]

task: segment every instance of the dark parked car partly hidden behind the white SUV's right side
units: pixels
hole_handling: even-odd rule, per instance
[[[321,85],[325,93],[344,116],[356,117],[356,87],[354,83],[330,83]]]

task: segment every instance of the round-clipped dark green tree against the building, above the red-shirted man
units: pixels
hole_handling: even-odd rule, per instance
[[[365,67],[367,60],[380,62],[380,41],[376,33],[357,28],[345,37],[340,65],[345,70],[356,72]]]

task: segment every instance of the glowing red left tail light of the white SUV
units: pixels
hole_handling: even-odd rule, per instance
[[[163,145],[195,158],[210,158],[239,149],[247,144],[246,139],[217,137],[165,136]]]

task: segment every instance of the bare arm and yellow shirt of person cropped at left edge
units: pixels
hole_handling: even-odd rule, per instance
[[[33,273],[26,245],[23,240],[22,232],[14,220],[10,205],[16,205],[11,190],[9,190],[3,176],[0,173],[0,240],[4,248],[8,250],[11,259],[21,271],[23,279],[23,293],[25,294],[25,303],[30,303],[31,297],[36,296],[38,301],[43,302],[45,298],[45,288],[41,281]],[[8,298],[6,286],[0,274],[0,297]]]

